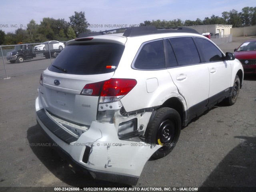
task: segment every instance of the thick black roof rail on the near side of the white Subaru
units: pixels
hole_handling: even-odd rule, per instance
[[[154,26],[140,26],[131,27],[126,29],[123,36],[135,37],[149,34],[160,34],[160,33],[195,33],[199,34],[196,30],[187,27],[171,27],[171,28],[156,28]]]

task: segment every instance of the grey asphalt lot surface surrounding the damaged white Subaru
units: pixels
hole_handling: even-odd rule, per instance
[[[220,48],[232,52],[245,39],[233,38]],[[40,73],[0,79],[0,187],[124,186],[75,174],[50,147],[32,146],[47,143],[34,109]],[[170,155],[146,163],[137,186],[256,187],[255,114],[256,76],[246,76],[238,102],[194,119]]]

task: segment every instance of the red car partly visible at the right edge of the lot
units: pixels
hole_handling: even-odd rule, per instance
[[[244,67],[244,73],[256,74],[256,40],[249,40],[234,49],[236,59],[240,60]]]

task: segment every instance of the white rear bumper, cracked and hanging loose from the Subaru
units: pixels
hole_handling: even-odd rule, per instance
[[[79,138],[62,129],[36,99],[36,118],[62,158],[93,178],[136,185],[144,165],[160,148],[119,140],[114,124],[92,122]]]

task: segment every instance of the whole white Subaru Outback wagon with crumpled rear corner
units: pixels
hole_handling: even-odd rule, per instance
[[[151,156],[174,148],[182,126],[238,98],[242,64],[193,29],[94,35],[66,43],[36,99],[56,150],[93,178],[135,185]]]

